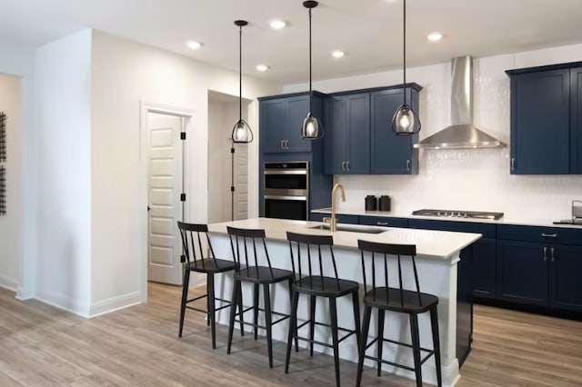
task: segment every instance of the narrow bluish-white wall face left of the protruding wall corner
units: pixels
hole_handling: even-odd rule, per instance
[[[36,51],[36,298],[88,315],[91,290],[91,31]]]

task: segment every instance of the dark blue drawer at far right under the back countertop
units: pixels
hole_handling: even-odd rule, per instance
[[[499,224],[497,226],[497,239],[542,243],[582,244],[582,230],[562,227]]]

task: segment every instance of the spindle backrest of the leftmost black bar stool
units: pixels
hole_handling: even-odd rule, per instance
[[[180,262],[194,263],[196,266],[205,267],[205,258],[213,259],[216,263],[215,252],[212,249],[212,243],[208,237],[208,226],[198,223],[184,223],[178,221],[178,229],[182,237],[182,255]],[[207,249],[206,249],[207,246]],[[207,253],[205,253],[205,251]],[[208,253],[209,256],[208,256]]]

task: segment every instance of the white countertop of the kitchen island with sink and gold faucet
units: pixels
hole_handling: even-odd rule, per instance
[[[226,226],[238,228],[264,229],[267,239],[286,241],[286,232],[333,235],[336,246],[357,249],[357,240],[363,239],[379,243],[416,244],[416,253],[430,257],[449,258],[459,250],[474,243],[481,237],[480,233],[452,233],[445,231],[416,230],[407,228],[390,228],[360,226],[363,229],[376,228],[386,230],[383,233],[355,233],[319,230],[321,222],[290,221],[284,219],[254,218],[235,222],[208,224],[211,233],[226,233]],[[358,226],[354,226],[357,228]]]

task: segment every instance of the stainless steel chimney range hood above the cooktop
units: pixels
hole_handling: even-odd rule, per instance
[[[507,146],[473,126],[473,65],[470,56],[452,61],[451,125],[414,144],[424,149],[503,148]]]

